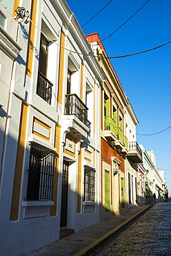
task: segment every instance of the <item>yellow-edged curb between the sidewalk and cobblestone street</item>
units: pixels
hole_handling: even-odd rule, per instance
[[[94,241],[90,246],[87,246],[86,248],[83,248],[79,251],[79,253],[75,254],[74,256],[93,256],[95,253],[99,253],[99,250],[101,250],[104,246],[106,246],[110,241],[112,241],[117,235],[119,235],[123,230],[128,228],[134,221],[137,221],[141,215],[143,215],[145,212],[150,210],[154,203],[148,205],[143,210],[138,212],[137,214],[134,214],[132,217],[121,223],[116,228],[112,229],[110,232],[103,235],[103,237],[100,237],[97,239],[97,241]]]

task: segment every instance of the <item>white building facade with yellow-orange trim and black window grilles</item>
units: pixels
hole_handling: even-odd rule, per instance
[[[6,3],[0,243],[21,255],[99,222],[103,73],[66,1]],[[12,18],[21,4],[28,24]]]

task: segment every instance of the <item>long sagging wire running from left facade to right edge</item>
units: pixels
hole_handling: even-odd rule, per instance
[[[34,24],[34,22],[33,22],[31,19],[30,19],[30,21],[32,22],[32,24]],[[45,33],[43,33],[43,32],[41,31],[41,29],[38,28],[38,26],[37,26],[36,24],[34,24],[34,26],[37,27],[37,29],[39,29],[40,32],[41,32],[46,38],[48,38],[48,40],[49,40],[50,42],[52,42],[53,44],[57,44],[57,43],[54,42],[52,39],[50,39]],[[169,44],[170,42],[171,42],[171,40],[168,41],[168,42],[166,42],[165,44]],[[65,49],[66,51],[70,51],[71,53],[76,53],[76,54],[78,54],[78,55],[89,56],[89,57],[98,57],[98,58],[101,58],[101,59],[116,59],[116,58],[121,58],[121,57],[128,57],[128,56],[132,56],[132,55],[137,55],[137,54],[140,54],[140,53],[146,53],[146,52],[148,52],[148,51],[152,51],[152,50],[155,50],[155,49],[157,49],[157,48],[160,48],[161,46],[165,46],[165,44],[161,44],[160,46],[157,46],[157,47],[154,47],[154,48],[150,48],[150,49],[148,49],[148,50],[141,51],[141,52],[139,52],[139,53],[131,53],[131,54],[128,54],[128,55],[121,55],[121,56],[114,56],[114,57],[101,57],[101,56],[97,56],[97,55],[91,55],[91,54],[88,54],[88,53],[78,53],[78,52],[76,52],[76,51],[72,51],[72,50],[70,50],[70,49],[68,49],[68,48],[63,47],[63,46],[61,46],[60,44],[57,44],[57,46],[59,46],[59,47]]]

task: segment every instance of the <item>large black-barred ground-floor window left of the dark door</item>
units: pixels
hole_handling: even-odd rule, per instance
[[[31,143],[27,200],[52,199],[54,152]]]

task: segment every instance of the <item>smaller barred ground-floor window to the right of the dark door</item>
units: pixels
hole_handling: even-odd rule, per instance
[[[84,169],[84,201],[95,201],[95,171],[89,167]]]

